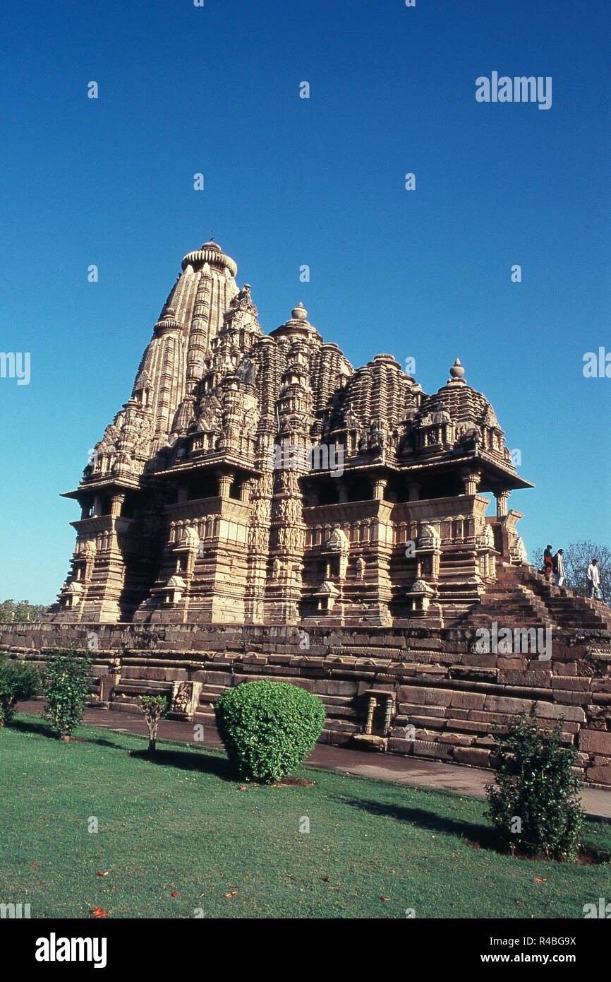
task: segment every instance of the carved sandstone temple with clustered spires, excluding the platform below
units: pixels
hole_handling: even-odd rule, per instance
[[[520,477],[456,359],[354,369],[299,303],[271,334],[215,242],[182,259],[75,491],[64,623],[461,623],[526,552]],[[488,493],[495,514],[486,516]]]

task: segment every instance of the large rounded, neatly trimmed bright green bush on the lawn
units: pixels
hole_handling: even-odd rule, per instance
[[[215,711],[229,760],[246,781],[281,781],[314,749],[325,724],[315,695],[267,679],[227,689]]]

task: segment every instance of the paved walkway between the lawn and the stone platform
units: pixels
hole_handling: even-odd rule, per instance
[[[17,708],[20,712],[32,712],[31,702],[18,703]],[[118,733],[148,735],[144,718],[139,713],[87,709],[83,723],[115,730]],[[191,743],[193,724],[162,720],[158,738]],[[208,728],[204,731],[203,743],[198,745],[223,746],[216,731]],[[474,797],[484,797],[484,786],[490,783],[492,777],[490,771],[484,771],[479,767],[444,764],[436,760],[399,757],[388,753],[378,754],[367,750],[349,750],[323,743],[316,745],[308,757],[307,764],[309,767],[321,767],[324,770],[343,774],[357,774],[360,777],[377,778],[380,781],[396,781],[401,785],[419,785],[421,788],[442,788]],[[611,821],[611,790],[585,788],[582,791],[582,802],[588,818]]]

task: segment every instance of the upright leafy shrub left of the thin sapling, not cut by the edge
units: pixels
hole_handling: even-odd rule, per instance
[[[90,660],[74,647],[57,648],[47,655],[44,694],[46,717],[51,729],[62,739],[76,730],[85,708],[89,687]]]

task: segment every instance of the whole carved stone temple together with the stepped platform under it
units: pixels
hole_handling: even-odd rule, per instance
[[[533,485],[460,361],[427,395],[392,355],[353,368],[301,303],[265,334],[236,273],[215,242],[182,259],[66,495],[58,603],[0,649],[73,642],[92,705],[167,692],[204,726],[227,685],[293,682],[325,702],[324,741],[484,767],[492,723],[534,710],[611,785],[611,611],[527,563],[508,499]],[[500,627],[512,643],[483,650]]]

